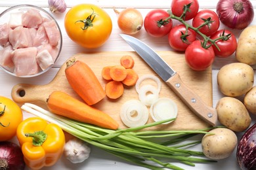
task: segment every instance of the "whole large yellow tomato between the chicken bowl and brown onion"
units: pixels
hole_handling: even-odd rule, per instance
[[[91,4],[72,7],[65,16],[64,26],[68,37],[85,48],[102,46],[112,32],[108,13]]]

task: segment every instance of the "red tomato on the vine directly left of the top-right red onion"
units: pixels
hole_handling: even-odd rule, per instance
[[[196,14],[192,21],[193,27],[199,27],[200,25],[205,23],[204,20],[207,20],[208,18],[211,19],[209,20],[209,25],[204,25],[199,29],[199,31],[206,36],[213,35],[213,33],[215,33],[219,29],[220,22],[216,12],[209,9],[200,10],[200,12]]]

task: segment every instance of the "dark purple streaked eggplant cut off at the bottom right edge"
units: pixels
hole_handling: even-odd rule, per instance
[[[256,124],[247,129],[240,139],[236,158],[241,169],[256,169]]]

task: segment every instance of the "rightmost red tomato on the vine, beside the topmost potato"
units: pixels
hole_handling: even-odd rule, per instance
[[[221,39],[221,40],[218,40],[215,42],[220,50],[218,50],[216,46],[212,45],[215,56],[218,56],[220,58],[226,58],[228,56],[231,56],[236,51],[238,42],[236,41],[236,37],[234,36],[234,34],[231,33],[230,31],[221,29],[221,30],[217,31],[216,33],[214,33],[213,35],[211,35],[210,38],[218,39],[221,36],[226,36],[229,34],[230,34],[230,37],[227,40]]]

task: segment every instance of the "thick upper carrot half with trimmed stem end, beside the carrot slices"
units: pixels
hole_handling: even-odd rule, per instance
[[[75,59],[67,61],[65,74],[70,86],[87,105],[94,105],[106,96],[95,73],[83,61]]]

